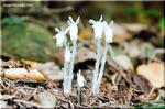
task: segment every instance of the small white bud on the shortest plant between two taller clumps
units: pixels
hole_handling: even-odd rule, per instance
[[[84,87],[86,83],[86,79],[84,78],[84,76],[81,75],[81,72],[79,70],[77,73],[77,85],[78,87]]]

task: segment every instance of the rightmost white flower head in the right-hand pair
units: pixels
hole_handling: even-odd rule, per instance
[[[114,35],[114,31],[111,28],[112,23],[113,23],[113,21],[111,21],[111,23],[108,25],[108,23],[106,21],[103,22],[105,36],[106,36],[106,42],[107,43],[113,42],[112,37]]]

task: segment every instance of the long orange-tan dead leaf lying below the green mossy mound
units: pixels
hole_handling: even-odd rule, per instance
[[[4,77],[12,79],[46,80],[36,69],[28,72],[25,68],[10,68],[4,70]]]

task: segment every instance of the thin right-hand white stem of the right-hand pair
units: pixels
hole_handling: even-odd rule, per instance
[[[101,68],[100,68],[99,77],[98,77],[98,87],[100,87],[102,75],[103,75],[103,69],[105,69],[105,64],[106,64],[106,58],[107,58],[107,51],[108,51],[108,43],[106,42],[103,56],[101,58]]]

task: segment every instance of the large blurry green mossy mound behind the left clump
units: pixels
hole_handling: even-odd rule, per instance
[[[2,54],[33,61],[51,61],[55,53],[53,34],[46,29],[24,23],[2,29]]]

